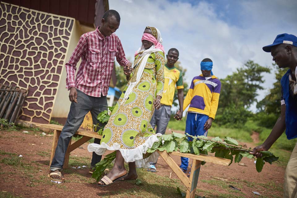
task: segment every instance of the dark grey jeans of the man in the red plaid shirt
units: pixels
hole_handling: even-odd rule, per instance
[[[62,170],[64,165],[64,158],[67,151],[67,147],[71,140],[71,137],[80,128],[80,125],[84,121],[85,115],[90,111],[92,114],[93,124],[102,124],[97,120],[97,115],[107,110],[106,96],[93,97],[86,95],[82,91],[77,91],[77,103],[71,102],[70,111],[68,113],[67,121],[62,129],[61,135],[58,140],[55,155],[50,165],[50,170]],[[97,130],[100,128],[98,127]],[[100,139],[95,138],[94,143],[100,144]],[[97,155],[93,152],[91,166],[95,166],[101,160],[101,155]]]

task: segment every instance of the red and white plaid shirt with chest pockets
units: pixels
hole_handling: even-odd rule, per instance
[[[87,95],[107,95],[114,57],[120,65],[127,65],[123,46],[117,35],[103,36],[99,29],[83,34],[66,63],[66,88],[75,87]],[[76,64],[81,58],[75,77]]]

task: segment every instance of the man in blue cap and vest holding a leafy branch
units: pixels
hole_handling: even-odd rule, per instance
[[[250,152],[257,158],[262,157],[260,151],[269,150],[285,130],[289,140],[297,137],[297,37],[291,34],[280,34],[275,38],[273,44],[263,47],[263,50],[271,53],[272,60],[279,68],[288,67],[289,70],[281,79],[281,115],[264,143]],[[297,197],[296,145],[286,167],[284,197]]]

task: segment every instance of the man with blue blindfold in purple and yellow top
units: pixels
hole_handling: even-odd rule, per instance
[[[221,82],[213,75],[213,61],[209,58],[200,63],[200,76],[193,78],[190,89],[183,101],[183,110],[190,105],[186,121],[186,133],[192,136],[207,136],[219,104]],[[189,158],[181,157],[180,168],[187,172]],[[189,175],[188,175],[189,176]]]

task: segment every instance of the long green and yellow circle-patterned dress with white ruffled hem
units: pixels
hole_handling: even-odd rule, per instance
[[[88,150],[99,155],[106,150],[120,150],[125,162],[143,159],[143,154],[150,148],[157,136],[150,125],[155,107],[153,101],[156,95],[162,96],[164,87],[163,52],[151,53],[144,67],[141,79],[132,89],[128,99],[122,103],[125,91],[131,82],[136,82],[138,55],[134,60],[134,73],[128,81],[118,103],[111,113],[110,120],[103,130],[100,145],[89,144]],[[140,64],[138,64],[140,65]],[[135,67],[136,66],[136,67]],[[135,75],[133,75],[135,74]],[[148,161],[155,161],[153,156],[142,161],[136,161],[138,167],[149,167]]]

